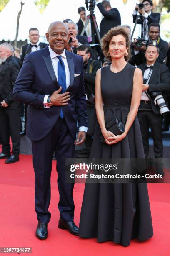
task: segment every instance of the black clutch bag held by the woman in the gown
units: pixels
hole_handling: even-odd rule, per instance
[[[124,125],[118,118],[107,123],[105,128],[107,131],[111,131],[115,136],[120,135],[125,131]],[[105,143],[105,138],[103,137],[102,133],[100,133],[100,139],[102,143]]]

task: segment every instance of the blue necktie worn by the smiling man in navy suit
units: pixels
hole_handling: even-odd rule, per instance
[[[65,75],[65,66],[64,66],[64,62],[61,59],[61,55],[57,56],[57,58],[59,59],[58,61],[58,67],[57,67],[57,82],[59,87],[62,87],[61,93],[64,93],[67,89],[67,85],[66,85],[66,75]],[[60,118],[63,118],[63,112],[62,112],[62,108],[60,111]]]

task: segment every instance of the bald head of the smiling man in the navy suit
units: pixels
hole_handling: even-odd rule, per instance
[[[46,33],[50,48],[57,54],[62,54],[70,39],[67,25],[61,21],[54,21],[50,24]]]

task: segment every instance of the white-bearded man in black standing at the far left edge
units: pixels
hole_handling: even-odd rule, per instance
[[[0,44],[0,159],[7,158],[6,164],[19,161],[20,153],[20,103],[14,101],[12,95],[20,66],[12,56],[13,52],[11,44]],[[13,144],[12,155],[10,136]]]

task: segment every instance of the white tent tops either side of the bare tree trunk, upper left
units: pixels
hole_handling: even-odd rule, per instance
[[[17,17],[20,9],[20,0],[10,0],[0,12],[0,41],[15,40]],[[28,39],[28,31],[32,27],[39,29],[40,36],[45,35],[42,14],[35,5],[34,0],[25,0],[19,20],[18,41]]]

